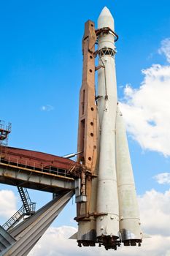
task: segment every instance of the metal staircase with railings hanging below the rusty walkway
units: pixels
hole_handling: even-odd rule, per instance
[[[15,214],[12,215],[12,217],[8,219],[7,222],[4,223],[4,225],[2,225],[4,230],[7,231],[11,230],[12,227],[14,227],[24,216],[30,216],[32,214],[35,214],[36,203],[31,202],[27,189],[23,187],[18,187],[18,192],[23,202],[23,206],[20,207],[20,209],[15,212]]]

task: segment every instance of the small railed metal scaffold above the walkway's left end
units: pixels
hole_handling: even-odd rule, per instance
[[[0,157],[7,155],[8,135],[11,132],[12,124],[0,120]]]

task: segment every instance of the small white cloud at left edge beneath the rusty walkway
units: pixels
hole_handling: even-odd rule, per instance
[[[17,198],[11,190],[0,191],[0,217],[8,219],[17,211]]]

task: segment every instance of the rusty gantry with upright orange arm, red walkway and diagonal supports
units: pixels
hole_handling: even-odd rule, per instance
[[[33,248],[47,227],[76,194],[77,222],[95,217],[95,206],[90,200],[96,186],[98,151],[97,112],[95,94],[96,31],[93,21],[85,23],[82,39],[83,72],[80,90],[80,116],[77,162],[35,151],[8,147],[11,125],[4,129],[0,123],[1,152],[0,182],[52,192],[56,197],[39,211],[13,227],[9,233],[0,226],[0,255],[23,256]],[[6,142],[6,144],[4,144]],[[37,232],[39,230],[39,232]],[[5,241],[5,242],[4,242]]]

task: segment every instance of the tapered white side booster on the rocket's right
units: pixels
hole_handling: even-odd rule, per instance
[[[139,208],[131,157],[128,150],[128,140],[125,134],[125,124],[118,105],[116,118],[116,163],[121,240],[125,245],[136,245],[136,241],[140,242],[142,240]]]

